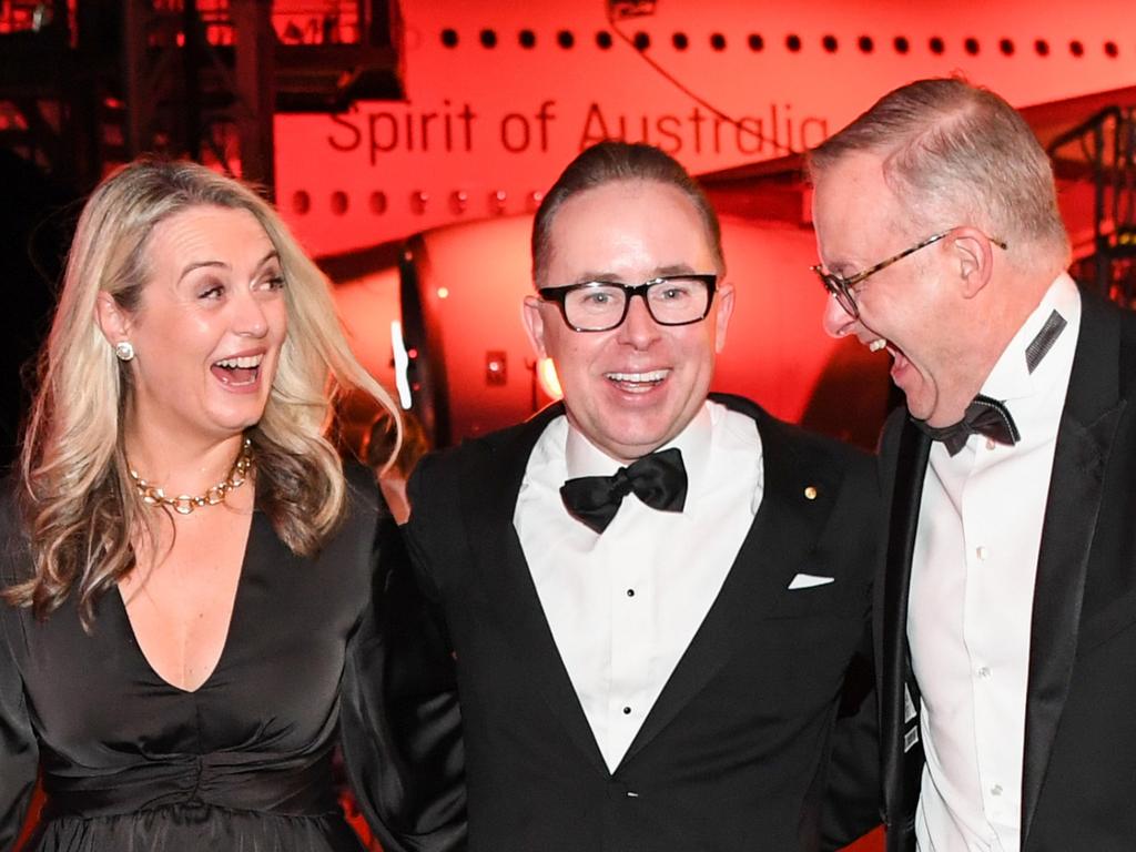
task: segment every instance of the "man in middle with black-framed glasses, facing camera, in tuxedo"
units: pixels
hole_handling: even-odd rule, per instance
[[[708,399],[735,291],[713,210],[658,149],[582,153],[536,215],[533,269],[525,323],[563,402],[410,484],[469,849],[820,849],[874,465]]]

